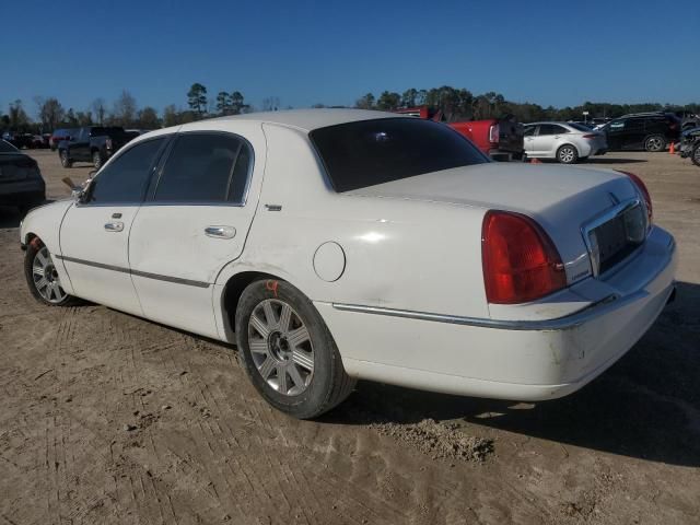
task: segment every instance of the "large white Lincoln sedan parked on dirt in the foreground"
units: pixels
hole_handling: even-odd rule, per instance
[[[490,162],[439,122],[355,109],[139,137],[34,209],[33,295],[236,343],[259,393],[313,418],[358,378],[516,400],[570,394],[675,292],[634,175]]]

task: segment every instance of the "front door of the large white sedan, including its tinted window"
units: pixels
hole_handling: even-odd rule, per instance
[[[129,273],[129,230],[165,142],[155,138],[125,148],[66,213],[61,258],[78,296],[143,315]]]

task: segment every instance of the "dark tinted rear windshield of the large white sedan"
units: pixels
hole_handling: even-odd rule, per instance
[[[490,162],[448,126],[411,117],[340,124],[310,137],[339,192]]]

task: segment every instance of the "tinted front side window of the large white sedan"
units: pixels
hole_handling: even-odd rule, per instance
[[[139,142],[119,154],[90,184],[85,201],[95,205],[141,202],[165,140],[160,137]]]

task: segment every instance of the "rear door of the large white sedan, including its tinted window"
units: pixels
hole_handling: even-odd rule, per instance
[[[257,133],[264,144],[261,128]],[[257,206],[257,190],[248,191],[252,142],[211,131],[173,140],[129,241],[133,284],[147,317],[218,337],[213,283],[241,255]],[[262,163],[264,149],[256,151]]]

